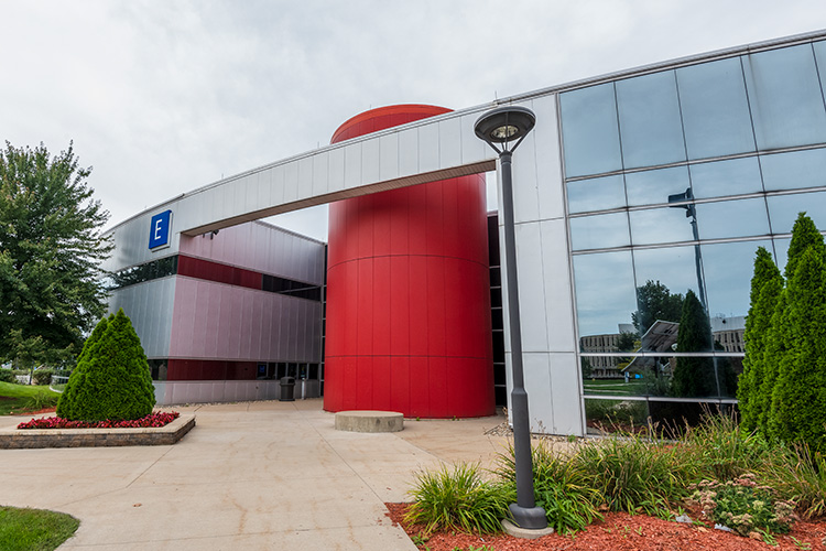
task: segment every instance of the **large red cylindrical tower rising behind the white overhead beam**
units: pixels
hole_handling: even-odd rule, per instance
[[[448,111],[372,109],[332,141]],[[492,414],[488,270],[482,174],[333,203],[324,409]]]

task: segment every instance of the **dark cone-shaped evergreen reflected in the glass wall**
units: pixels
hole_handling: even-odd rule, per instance
[[[706,310],[694,291],[683,301],[677,333],[677,352],[711,352],[711,327]],[[709,357],[677,357],[671,389],[674,396],[695,397],[716,393],[714,360]]]

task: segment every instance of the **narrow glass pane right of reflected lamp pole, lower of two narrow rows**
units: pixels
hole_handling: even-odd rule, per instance
[[[700,239],[768,236],[769,216],[762,197],[697,205]]]

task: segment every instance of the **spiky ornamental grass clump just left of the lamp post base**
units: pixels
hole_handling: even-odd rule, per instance
[[[477,464],[463,463],[417,475],[410,491],[414,503],[405,520],[424,523],[425,533],[438,529],[501,531],[500,519],[509,516],[513,496],[507,486],[482,480],[479,471]]]

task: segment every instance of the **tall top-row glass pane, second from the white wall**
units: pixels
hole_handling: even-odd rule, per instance
[[[618,82],[617,106],[626,169],[685,160],[673,71]]]

